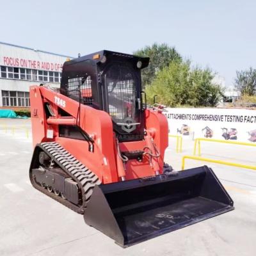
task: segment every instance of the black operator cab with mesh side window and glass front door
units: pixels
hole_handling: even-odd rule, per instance
[[[109,113],[119,141],[143,140],[146,102],[143,104],[141,68],[148,61],[111,51],[66,61],[61,93]]]

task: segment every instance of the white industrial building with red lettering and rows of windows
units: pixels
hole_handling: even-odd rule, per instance
[[[29,107],[29,86],[60,86],[62,65],[69,56],[0,42],[0,108]]]

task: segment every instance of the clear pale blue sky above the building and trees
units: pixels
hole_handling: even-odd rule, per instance
[[[0,41],[70,56],[166,43],[232,85],[256,68],[255,13],[249,0],[0,0]]]

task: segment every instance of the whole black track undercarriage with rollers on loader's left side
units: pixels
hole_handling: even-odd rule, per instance
[[[37,145],[29,178],[33,186],[80,214],[99,178],[58,143]]]

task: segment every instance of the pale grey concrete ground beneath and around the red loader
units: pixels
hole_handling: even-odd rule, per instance
[[[175,139],[165,159],[180,170],[182,155],[193,154],[184,139],[182,154]],[[220,164],[212,167],[234,200],[235,211],[175,232],[121,248],[84,224],[83,216],[51,200],[29,183],[32,155],[30,120],[0,119],[0,255],[255,255],[256,172]],[[202,142],[202,156],[255,165],[256,148]],[[187,160],[186,168],[204,163]]]

